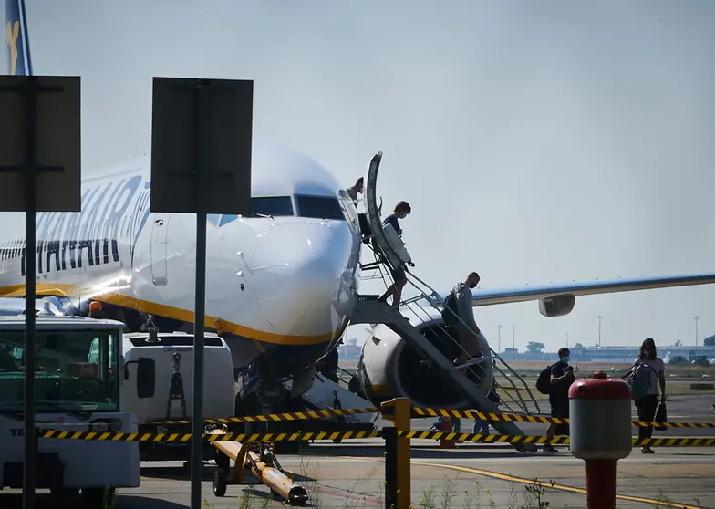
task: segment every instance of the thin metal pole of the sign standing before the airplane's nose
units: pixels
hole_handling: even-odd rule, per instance
[[[206,313],[206,151],[210,133],[207,132],[206,94],[208,90],[199,83],[198,131],[196,151],[196,302],[193,325],[193,412],[192,412],[192,509],[201,509],[202,452],[203,452],[203,322]]]

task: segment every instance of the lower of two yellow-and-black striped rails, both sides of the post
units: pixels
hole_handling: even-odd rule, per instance
[[[120,431],[65,431],[37,430],[40,438],[84,441],[161,441],[186,442],[191,433],[123,433]],[[203,441],[311,441],[311,440],[358,440],[382,438],[382,431],[294,431],[284,433],[203,433]],[[458,440],[482,443],[533,443],[568,445],[568,437],[547,438],[533,435],[482,435],[472,433],[448,433],[444,431],[398,431],[398,438],[428,440]],[[657,447],[713,447],[715,438],[658,438],[633,439],[633,445]]]

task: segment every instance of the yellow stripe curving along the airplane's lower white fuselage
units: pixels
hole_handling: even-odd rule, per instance
[[[78,296],[87,295],[88,292],[81,292],[78,286],[59,285],[55,283],[37,283],[36,294],[38,296]],[[20,297],[25,295],[25,285],[0,286],[0,296],[3,297]],[[116,292],[103,293],[98,296],[92,296],[92,300],[105,302],[114,306],[127,307],[143,311],[148,315],[157,315],[158,317],[167,317],[181,322],[192,323],[194,320],[193,312],[180,307],[165,306],[155,302],[149,302],[139,298],[124,296]],[[337,330],[316,336],[291,336],[288,334],[275,334],[274,332],[266,332],[251,327],[245,327],[240,324],[226,321],[222,318],[211,317],[206,315],[204,318],[204,327],[215,329],[218,334],[235,334],[243,338],[254,339],[264,343],[273,345],[288,345],[307,347],[311,345],[319,345],[326,343],[332,338],[335,338]]]

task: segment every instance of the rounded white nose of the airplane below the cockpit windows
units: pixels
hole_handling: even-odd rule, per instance
[[[275,334],[319,343],[337,329],[333,304],[349,257],[349,240],[340,241],[346,236],[341,226],[284,223],[261,234],[254,249],[254,287]]]

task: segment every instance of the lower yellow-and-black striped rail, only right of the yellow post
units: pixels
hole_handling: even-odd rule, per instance
[[[483,443],[534,443],[537,445],[546,443],[568,445],[570,443],[568,437],[547,438],[534,435],[482,435],[479,433],[448,433],[445,431],[398,431],[398,437],[409,439],[476,441]],[[651,438],[642,440],[634,438],[632,443],[634,446],[715,447],[715,438]]]

